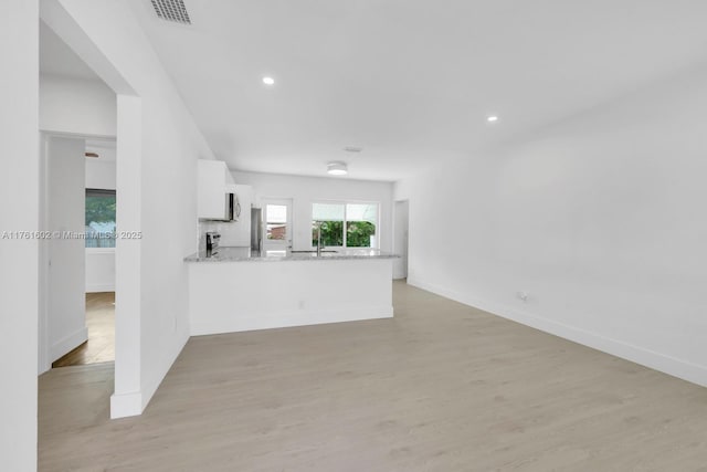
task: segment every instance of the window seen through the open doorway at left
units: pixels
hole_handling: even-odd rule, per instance
[[[115,190],[86,189],[86,248],[115,248]]]

